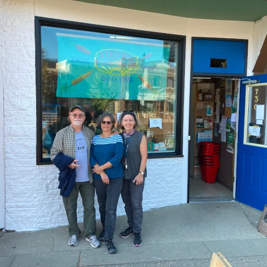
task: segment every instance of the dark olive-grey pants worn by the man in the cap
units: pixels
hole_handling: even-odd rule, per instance
[[[69,235],[79,235],[81,230],[77,223],[77,199],[79,191],[84,206],[85,237],[90,237],[96,232],[95,208],[94,208],[94,186],[93,183],[75,182],[74,188],[68,197],[63,197],[63,203],[69,222]]]

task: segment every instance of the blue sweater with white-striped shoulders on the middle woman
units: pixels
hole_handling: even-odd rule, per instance
[[[93,167],[95,164],[100,166],[110,162],[113,167],[106,169],[104,172],[109,178],[123,177],[122,169],[122,155],[124,151],[124,143],[122,136],[114,134],[110,137],[100,137],[95,135],[92,138],[90,150],[90,165]],[[101,178],[100,175],[93,174],[93,178]]]

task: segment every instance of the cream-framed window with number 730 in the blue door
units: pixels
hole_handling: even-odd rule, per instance
[[[246,87],[244,144],[267,147],[267,84]]]

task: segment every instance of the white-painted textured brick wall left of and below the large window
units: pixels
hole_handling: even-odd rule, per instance
[[[36,166],[34,0],[3,2],[6,229],[64,225],[67,220],[57,189],[58,170],[52,165]],[[144,210],[181,203],[181,166],[182,158],[148,160]],[[118,215],[123,214],[120,199]],[[83,220],[81,199],[78,219]]]

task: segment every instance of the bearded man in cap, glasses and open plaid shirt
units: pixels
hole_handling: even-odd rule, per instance
[[[90,146],[94,133],[83,126],[86,118],[83,107],[74,106],[70,111],[69,118],[71,125],[56,134],[50,154],[52,161],[58,154],[62,155],[61,153],[73,158],[73,162],[68,167],[75,169],[76,172],[74,188],[68,197],[63,196],[69,222],[70,238],[68,243],[70,246],[76,246],[81,234],[77,223],[77,199],[80,192],[84,206],[85,238],[93,248],[97,248],[100,246],[100,242],[95,236],[94,186],[89,163]]]

